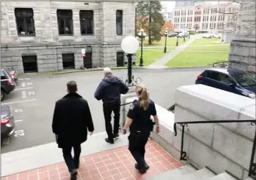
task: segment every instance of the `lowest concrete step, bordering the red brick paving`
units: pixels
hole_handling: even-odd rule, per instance
[[[183,175],[188,175],[196,171],[191,165],[184,165],[181,168],[177,168],[171,171],[164,172],[160,175],[155,175],[150,178],[144,178],[144,180],[170,180],[170,179],[181,179]]]

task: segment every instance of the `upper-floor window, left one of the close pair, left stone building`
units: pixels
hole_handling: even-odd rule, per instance
[[[72,35],[73,23],[72,23],[72,10],[58,9],[58,34],[59,35]]]

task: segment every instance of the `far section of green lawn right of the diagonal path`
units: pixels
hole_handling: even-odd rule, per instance
[[[230,43],[219,43],[220,39],[198,39],[190,44],[185,50],[213,50],[213,51],[229,51]],[[207,46],[210,45],[210,46]],[[201,47],[197,47],[201,46]]]

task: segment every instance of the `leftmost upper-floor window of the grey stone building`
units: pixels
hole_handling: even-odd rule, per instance
[[[33,9],[16,8],[16,26],[19,36],[35,36]]]

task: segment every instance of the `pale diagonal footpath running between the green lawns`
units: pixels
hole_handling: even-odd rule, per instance
[[[190,39],[187,41],[187,43],[184,43],[181,47],[177,47],[175,50],[172,50],[169,54],[167,54],[164,57],[161,57],[160,60],[154,62],[153,64],[150,64],[148,67],[146,68],[167,68],[167,66],[165,66],[165,64],[167,64],[167,62],[169,62],[172,58],[174,58],[175,56],[177,56],[177,54],[180,54],[181,51],[183,51],[184,49],[186,49],[194,40],[196,40],[198,37],[193,36],[193,39]],[[183,40],[183,38],[181,38],[181,40]]]

